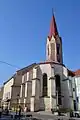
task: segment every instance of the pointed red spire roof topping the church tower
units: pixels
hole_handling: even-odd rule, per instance
[[[55,17],[54,15],[52,16],[52,20],[51,20],[51,24],[50,24],[50,32],[49,32],[49,38],[52,37],[52,35],[55,37],[56,35],[58,35],[58,30],[57,30],[57,25],[56,25],[56,21],[55,21]]]

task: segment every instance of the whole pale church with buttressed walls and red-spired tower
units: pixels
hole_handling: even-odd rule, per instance
[[[74,74],[63,64],[62,53],[62,39],[53,15],[46,40],[46,60],[16,71],[4,83],[3,104],[8,100],[10,107],[19,104],[30,111],[51,111],[58,107],[73,110],[70,78]]]

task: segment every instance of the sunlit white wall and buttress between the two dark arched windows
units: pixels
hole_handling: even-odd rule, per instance
[[[41,68],[42,74],[46,73],[48,77],[48,97],[44,98],[44,106],[45,106],[45,109],[48,111],[56,107],[54,66],[51,64],[43,64],[43,65],[40,65],[40,68]]]

